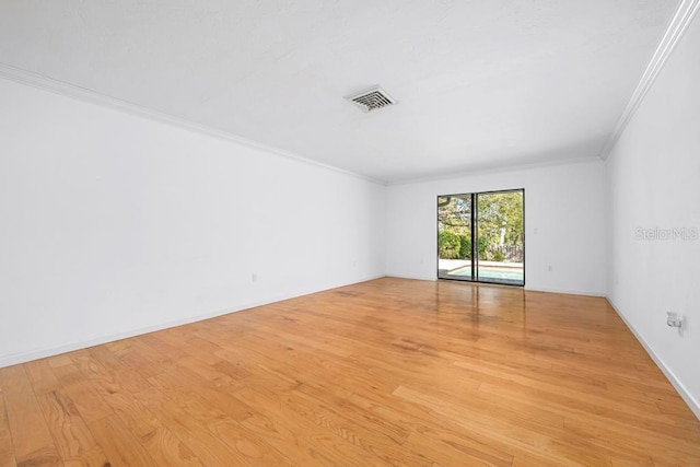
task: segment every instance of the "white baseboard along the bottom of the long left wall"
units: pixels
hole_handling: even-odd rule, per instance
[[[62,346],[50,347],[50,348],[38,349],[38,350],[32,350],[32,351],[28,351],[28,352],[20,352],[20,353],[11,353],[11,354],[8,354],[8,355],[1,355],[0,357],[0,369],[4,367],[4,366],[10,366],[10,365],[16,365],[16,364],[20,364],[20,363],[31,362],[33,360],[45,359],[47,357],[59,355],[61,353],[72,352],[74,350],[86,349],[89,347],[100,346],[100,345],[107,343],[107,342],[114,342],[116,340],[127,339],[129,337],[141,336],[141,335],[149,334],[149,332],[154,332],[154,331],[158,331],[158,330],[163,330],[163,329],[168,329],[168,328],[176,327],[176,326],[187,325],[187,324],[190,324],[190,323],[201,322],[201,320],[205,320],[205,319],[214,318],[217,316],[222,316],[222,315],[228,315],[230,313],[241,312],[243,310],[255,308],[256,306],[269,305],[270,303],[281,302],[283,300],[290,300],[290,299],[294,299],[294,297],[302,296],[302,295],[308,295],[311,293],[324,292],[324,291],[327,291],[327,290],[338,289],[338,288],[346,287],[346,285],[351,285],[351,284],[354,284],[354,283],[366,282],[366,281],[370,281],[370,280],[380,279],[380,278],[383,278],[383,277],[384,277],[384,275],[382,275],[382,276],[371,276],[371,277],[368,277],[368,278],[364,278],[364,279],[359,279],[358,281],[348,282],[348,283],[341,283],[341,284],[338,284],[338,285],[332,285],[332,287],[327,288],[327,289],[312,290],[312,291],[306,291],[306,292],[302,292],[302,293],[299,293],[299,294],[292,294],[292,295],[287,295],[287,296],[275,296],[275,297],[272,297],[270,300],[242,304],[242,305],[238,305],[238,306],[236,306],[234,308],[220,310],[220,311],[217,311],[217,312],[205,313],[205,314],[201,314],[201,315],[188,316],[186,318],[175,319],[175,320],[166,322],[166,323],[158,323],[158,324],[154,324],[152,326],[145,326],[145,327],[131,329],[131,330],[124,331],[124,332],[117,332],[117,334],[100,336],[100,337],[95,337],[95,338],[86,339],[86,340],[81,340],[81,341],[67,342],[67,343],[65,343]]]

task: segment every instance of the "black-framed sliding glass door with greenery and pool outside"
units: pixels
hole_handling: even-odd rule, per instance
[[[525,191],[438,197],[438,278],[525,284]]]

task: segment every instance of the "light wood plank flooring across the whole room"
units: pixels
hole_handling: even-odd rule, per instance
[[[516,288],[385,278],[0,388],[2,467],[700,465],[700,422],[604,299]]]

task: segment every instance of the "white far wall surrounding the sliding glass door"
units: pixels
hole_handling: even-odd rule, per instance
[[[387,272],[436,278],[439,195],[525,188],[525,288],[603,295],[603,175],[588,161],[389,186]]]

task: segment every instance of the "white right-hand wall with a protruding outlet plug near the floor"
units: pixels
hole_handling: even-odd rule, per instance
[[[696,17],[607,161],[608,296],[700,417],[700,21]],[[666,312],[686,315],[681,336]]]

